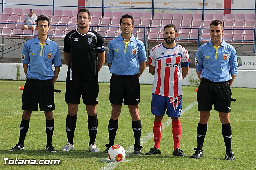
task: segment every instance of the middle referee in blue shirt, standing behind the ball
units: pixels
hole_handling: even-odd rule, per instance
[[[141,121],[139,114],[140,82],[139,77],[146,68],[146,49],[144,44],[132,34],[134,27],[133,17],[123,15],[120,20],[122,34],[108,44],[108,67],[112,73],[110,80],[109,99],[112,107],[108,124],[109,144],[107,149],[114,145],[118,118],[122,103],[128,105],[132,117],[132,128],[135,138],[134,154],[142,154],[140,146]]]

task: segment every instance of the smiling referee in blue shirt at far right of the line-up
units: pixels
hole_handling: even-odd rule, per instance
[[[196,53],[196,73],[201,81],[197,91],[197,103],[200,113],[197,125],[197,148],[191,158],[204,156],[203,144],[207,131],[207,122],[214,103],[222,123],[222,136],[226,146],[226,160],[235,160],[231,150],[231,126],[229,120],[231,89],[237,74],[236,50],[226,43],[223,36],[223,24],[220,20],[210,23],[211,40],[202,45]]]

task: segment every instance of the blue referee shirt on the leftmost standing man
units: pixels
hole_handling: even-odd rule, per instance
[[[49,38],[44,44],[40,43],[38,37],[32,38],[24,43],[21,63],[28,64],[28,79],[52,79],[52,64],[54,67],[61,66],[59,46]]]

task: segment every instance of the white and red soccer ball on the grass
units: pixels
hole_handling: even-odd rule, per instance
[[[119,144],[115,144],[111,146],[108,150],[108,158],[111,161],[117,161],[120,162],[125,158],[125,150],[123,146]]]

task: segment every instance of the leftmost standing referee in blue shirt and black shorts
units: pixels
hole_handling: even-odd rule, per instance
[[[21,62],[23,63],[26,83],[22,94],[22,120],[20,123],[20,138],[18,144],[9,151],[24,149],[24,141],[28,132],[32,111],[44,111],[46,117],[46,134],[48,152],[56,152],[52,146],[54,119],[52,111],[54,105],[54,83],[60,72],[60,49],[56,42],[47,37],[50,22],[46,16],[39,16],[36,20],[38,36],[24,43]],[[54,65],[55,70],[52,70]]]

